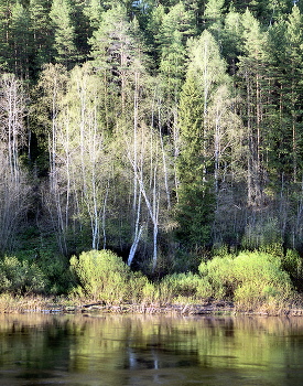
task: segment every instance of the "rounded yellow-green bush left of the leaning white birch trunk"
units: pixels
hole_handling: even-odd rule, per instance
[[[90,250],[79,258],[73,256],[71,268],[86,297],[119,303],[129,296],[130,269],[110,250]],[[83,294],[82,289],[79,294]]]

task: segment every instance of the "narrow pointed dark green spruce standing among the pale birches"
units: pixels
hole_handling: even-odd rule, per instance
[[[187,74],[180,99],[180,156],[177,159],[177,236],[187,248],[209,242],[214,216],[212,182],[205,182],[203,96]]]

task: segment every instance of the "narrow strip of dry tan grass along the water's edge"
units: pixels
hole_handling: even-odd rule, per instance
[[[122,303],[105,304],[104,302],[87,302],[80,299],[66,299],[64,297],[24,296],[0,297],[0,313],[84,313],[84,314],[166,314],[174,317],[188,315],[284,315],[303,317],[303,301],[290,302],[288,305],[259,304],[252,308],[239,307],[230,301],[206,299],[204,302],[194,303]]]

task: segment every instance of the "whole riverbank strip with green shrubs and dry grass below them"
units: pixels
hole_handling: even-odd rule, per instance
[[[207,313],[261,312],[300,314],[296,291],[301,258],[285,255],[218,251],[198,272],[151,280],[133,272],[109,250],[73,256],[69,266],[6,257],[0,261],[0,312],[85,311]],[[58,290],[59,289],[59,290]],[[89,305],[90,304],[90,305]],[[186,311],[186,312],[185,312]]]

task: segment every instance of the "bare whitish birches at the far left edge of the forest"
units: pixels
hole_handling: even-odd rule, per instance
[[[25,98],[14,75],[0,76],[0,250],[13,245],[13,235],[29,207],[30,187],[20,165],[25,140]]]

